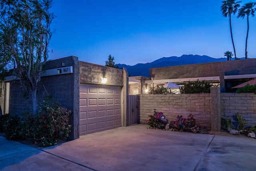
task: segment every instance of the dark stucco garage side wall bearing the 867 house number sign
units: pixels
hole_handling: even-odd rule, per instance
[[[60,104],[72,111],[70,133],[71,139],[79,137],[79,62],[75,56],[52,60],[46,63],[44,70],[61,68],[62,63],[73,66],[72,74],[42,77],[38,84],[38,104],[46,97],[51,101],[59,101]],[[25,98],[26,97],[26,98]],[[26,94],[26,86],[22,80],[10,82],[10,109],[12,115],[21,115],[22,112],[32,111],[32,100]]]

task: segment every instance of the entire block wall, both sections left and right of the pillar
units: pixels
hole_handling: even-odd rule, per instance
[[[162,111],[169,121],[177,115],[194,115],[202,129],[211,129],[211,96],[204,94],[143,94],[139,95],[138,122],[145,123],[154,109]],[[256,95],[254,93],[220,93],[221,117],[232,121],[232,128],[238,129],[236,113],[246,119],[244,128],[256,125]]]

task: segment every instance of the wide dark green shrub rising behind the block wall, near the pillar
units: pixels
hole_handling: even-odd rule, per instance
[[[180,93],[210,93],[210,87],[214,86],[206,81],[188,81],[180,88]]]

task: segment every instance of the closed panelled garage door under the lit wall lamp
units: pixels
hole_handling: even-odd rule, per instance
[[[80,135],[121,126],[121,87],[80,84]]]

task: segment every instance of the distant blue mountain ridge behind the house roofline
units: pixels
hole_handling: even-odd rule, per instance
[[[179,66],[179,65],[189,65],[189,64],[202,64],[209,62],[221,62],[226,61],[227,58],[212,58],[210,56],[200,56],[200,55],[182,55],[180,57],[171,56],[163,57],[153,62],[146,64],[136,64],[134,66],[129,66],[126,64],[117,64],[119,68],[126,68],[130,76],[145,76],[149,77],[149,68],[159,68],[166,66]]]

